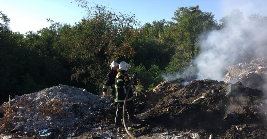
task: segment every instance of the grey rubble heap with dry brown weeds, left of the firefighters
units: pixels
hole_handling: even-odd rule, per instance
[[[99,98],[85,89],[60,84],[39,92],[16,96],[10,100],[10,104],[2,104],[1,108],[6,113],[1,118],[0,132],[9,134],[18,125],[22,125],[23,134],[30,135],[42,130],[63,131],[78,127],[82,122],[90,124],[100,119],[112,118],[114,115],[108,112],[110,109],[113,111],[112,107],[111,101]]]

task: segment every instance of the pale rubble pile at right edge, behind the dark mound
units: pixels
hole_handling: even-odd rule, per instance
[[[239,63],[226,68],[223,78],[225,83],[240,81],[245,86],[263,90],[267,81],[267,57],[252,60],[250,63]]]

